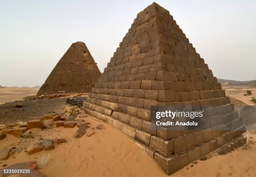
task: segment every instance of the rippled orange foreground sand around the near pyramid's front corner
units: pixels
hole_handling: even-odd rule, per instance
[[[46,153],[50,162],[40,171],[47,177],[167,177],[159,165],[145,155],[123,132],[107,123],[85,118],[93,127],[99,123],[105,130],[95,130],[91,137],[74,138],[75,128],[58,127],[49,131],[32,129],[33,134],[44,139],[65,137],[67,142],[56,145],[51,151],[41,151],[33,155],[16,152],[0,165],[11,165],[38,159]],[[256,132],[250,132],[247,150],[238,148],[227,155],[217,155],[198,164],[189,164],[172,177],[255,177],[256,176]],[[23,139],[21,141],[27,141]],[[0,148],[20,142],[20,138],[8,135]]]

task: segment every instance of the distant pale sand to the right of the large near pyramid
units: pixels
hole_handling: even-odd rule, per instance
[[[226,95],[230,97],[234,97],[237,100],[241,100],[248,105],[256,105],[251,102],[251,97],[256,97],[256,87],[223,87],[225,89]],[[246,90],[251,90],[251,96],[244,96],[246,94]]]

